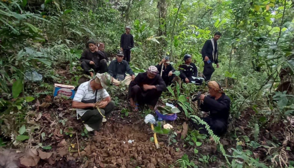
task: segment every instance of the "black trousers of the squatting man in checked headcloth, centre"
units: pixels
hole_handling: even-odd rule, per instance
[[[131,97],[134,102],[137,102],[139,105],[152,105],[155,107],[160,95],[162,92],[157,91],[156,89],[147,90],[145,92],[140,86],[136,85],[131,88]]]

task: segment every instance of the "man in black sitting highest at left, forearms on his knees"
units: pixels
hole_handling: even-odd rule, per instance
[[[94,40],[89,40],[87,44],[88,48],[85,49],[80,58],[81,67],[85,74],[89,74],[93,77],[95,72],[107,72],[107,61],[103,53],[98,50],[96,42]],[[94,70],[94,72],[91,69]]]

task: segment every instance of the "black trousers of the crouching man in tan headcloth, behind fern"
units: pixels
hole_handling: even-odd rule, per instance
[[[227,122],[222,120],[211,119],[210,116],[201,118],[201,119],[210,126],[210,129],[213,131],[215,135],[222,136],[227,132],[227,127],[228,127]],[[205,125],[197,124],[193,120],[191,121],[192,121],[192,125],[199,130],[199,133],[208,135],[208,131],[205,129]]]

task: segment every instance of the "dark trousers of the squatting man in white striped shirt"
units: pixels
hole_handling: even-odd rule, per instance
[[[110,101],[103,109],[100,109],[100,111],[104,116],[109,117],[114,108],[114,101]],[[98,131],[102,124],[103,116],[101,116],[97,109],[94,109],[88,110],[86,113],[84,113],[84,115],[81,116],[81,119],[85,124],[88,124],[89,127]]]

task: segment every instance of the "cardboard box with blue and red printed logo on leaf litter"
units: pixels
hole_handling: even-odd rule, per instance
[[[62,85],[62,84],[57,84],[54,83],[54,90],[53,90],[53,96],[66,96],[68,98],[73,99],[74,98],[74,94],[76,93],[74,91],[74,86],[70,86],[70,85]]]

